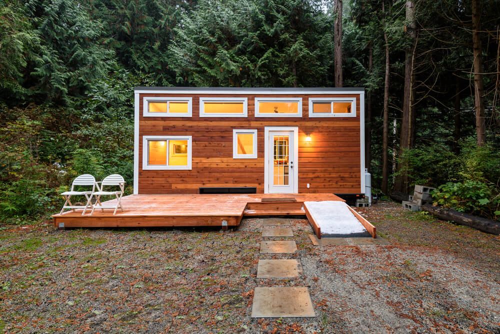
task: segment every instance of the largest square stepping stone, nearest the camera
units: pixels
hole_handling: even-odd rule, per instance
[[[252,318],[314,316],[306,287],[256,287],[253,291]]]

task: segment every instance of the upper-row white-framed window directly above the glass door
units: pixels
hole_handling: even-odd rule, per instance
[[[255,117],[302,117],[302,98],[255,98]]]

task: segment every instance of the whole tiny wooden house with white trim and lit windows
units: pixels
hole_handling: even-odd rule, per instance
[[[137,87],[134,194],[364,193],[360,88]]]

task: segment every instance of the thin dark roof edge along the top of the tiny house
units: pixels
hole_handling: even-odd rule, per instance
[[[271,88],[271,87],[134,87],[134,91],[234,91],[234,92],[364,92],[362,87],[291,87],[291,88]]]

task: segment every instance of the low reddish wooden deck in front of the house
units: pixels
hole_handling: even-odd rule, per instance
[[[116,200],[105,202],[115,203]],[[56,227],[238,226],[243,216],[305,215],[304,201],[343,201],[333,194],[128,195],[124,211],[54,214]],[[63,225],[61,225],[63,223]]]

